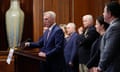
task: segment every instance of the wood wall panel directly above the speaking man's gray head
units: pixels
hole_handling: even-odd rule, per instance
[[[59,24],[72,21],[72,0],[44,0],[44,11],[55,11]]]

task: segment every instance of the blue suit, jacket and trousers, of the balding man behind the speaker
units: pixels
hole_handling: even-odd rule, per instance
[[[64,56],[66,61],[67,72],[78,72],[78,57],[77,57],[77,38],[78,34],[76,32],[68,38],[65,42]],[[73,66],[69,65],[69,62],[72,62]]]

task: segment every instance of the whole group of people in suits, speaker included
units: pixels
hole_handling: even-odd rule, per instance
[[[82,17],[83,26],[76,31],[73,22],[57,25],[56,14],[47,11],[43,23],[47,29],[37,42],[26,42],[30,48],[39,47],[41,72],[120,72],[120,4],[105,5],[103,16]]]

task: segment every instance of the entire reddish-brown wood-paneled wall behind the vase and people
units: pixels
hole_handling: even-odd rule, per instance
[[[92,14],[94,19],[102,15],[106,2],[113,0],[20,0],[25,13],[22,41],[31,38],[37,41],[43,34],[43,12],[52,10],[57,14],[56,23],[67,24],[75,22],[77,28],[82,25],[82,16]],[[120,1],[120,0],[116,0]],[[0,50],[7,50],[7,36],[5,30],[5,12],[10,0],[0,0]]]

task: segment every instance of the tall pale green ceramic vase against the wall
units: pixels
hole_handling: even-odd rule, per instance
[[[5,18],[9,48],[16,48],[20,45],[24,26],[24,12],[20,8],[19,0],[10,1]]]

